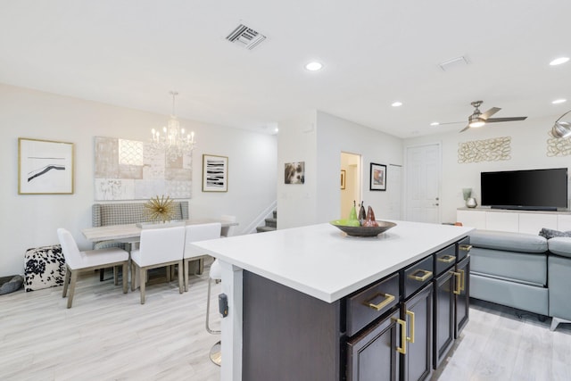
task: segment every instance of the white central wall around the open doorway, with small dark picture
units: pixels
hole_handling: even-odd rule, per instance
[[[369,164],[402,164],[402,141],[372,128],[325,112],[308,112],[280,123],[277,143],[277,227],[292,228],[327,222],[340,215],[341,153],[361,155],[361,189],[365,207],[377,219],[389,208],[389,194],[369,191]],[[305,184],[284,184],[284,163],[305,161]],[[319,169],[319,170],[318,170]],[[349,211],[346,211],[348,213]],[[343,213],[342,213],[343,214]]]

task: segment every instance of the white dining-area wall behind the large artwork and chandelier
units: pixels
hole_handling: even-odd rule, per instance
[[[0,276],[23,274],[23,254],[56,244],[56,228],[69,228],[81,249],[80,231],[91,226],[94,203],[94,137],[148,140],[168,115],[140,112],[0,84]],[[236,128],[181,120],[194,130],[192,217],[236,215],[236,234],[276,199],[277,139]],[[18,137],[75,145],[73,195],[18,195]],[[203,193],[203,153],[228,156],[228,193]]]

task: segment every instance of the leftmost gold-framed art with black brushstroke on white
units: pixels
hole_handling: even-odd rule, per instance
[[[73,143],[19,137],[18,194],[72,195]]]

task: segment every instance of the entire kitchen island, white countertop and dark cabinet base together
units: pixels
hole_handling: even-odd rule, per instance
[[[432,373],[442,357],[433,355],[441,341],[435,334],[447,331],[453,341],[457,323],[468,321],[472,228],[392,222],[394,228],[374,237],[347,236],[324,223],[196,243],[222,265],[228,316],[221,379],[364,380],[375,372],[374,379],[396,380]],[[441,299],[445,313],[434,308]],[[460,322],[457,302],[465,310]],[[417,308],[416,318],[407,305]],[[441,316],[447,329],[439,328]],[[424,365],[410,369],[418,362],[411,355],[424,356]]]

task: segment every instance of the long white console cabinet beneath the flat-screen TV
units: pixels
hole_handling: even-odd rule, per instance
[[[571,230],[571,211],[458,208],[456,221],[472,228],[538,234],[542,228]]]

